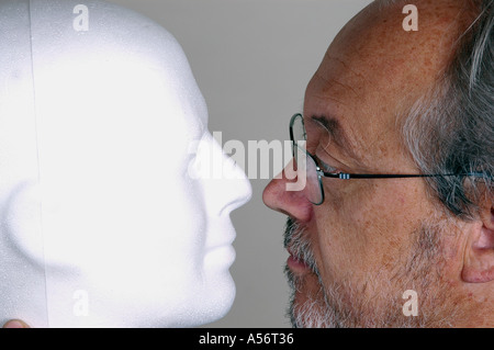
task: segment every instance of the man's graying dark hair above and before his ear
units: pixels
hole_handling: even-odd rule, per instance
[[[473,1],[479,15],[460,37],[444,77],[415,103],[403,123],[404,144],[427,174],[435,197],[471,219],[482,195],[493,195],[494,0]]]

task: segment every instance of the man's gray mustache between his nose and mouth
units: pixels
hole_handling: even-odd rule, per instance
[[[304,261],[318,275],[312,244],[305,234],[305,227],[290,216],[285,223],[283,246],[296,260]]]

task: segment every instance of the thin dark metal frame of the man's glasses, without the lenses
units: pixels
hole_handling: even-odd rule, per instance
[[[313,203],[314,205],[321,205],[324,202],[324,187],[323,187],[323,178],[332,178],[332,179],[339,179],[339,180],[353,180],[353,179],[413,179],[413,178],[446,178],[446,177],[475,177],[475,178],[490,178],[489,176],[484,174],[483,172],[465,172],[465,173],[447,173],[447,174],[423,174],[423,173],[414,173],[414,174],[391,174],[391,173],[347,173],[347,172],[338,172],[338,173],[332,173],[332,172],[325,172],[321,169],[321,167],[317,163],[317,160],[314,155],[308,153],[305,148],[300,147],[296,143],[296,140],[293,137],[293,124],[295,123],[296,118],[300,117],[302,122],[303,133],[305,140],[307,139],[307,133],[305,131],[305,124],[304,124],[304,117],[301,113],[296,113],[292,116],[290,120],[290,140],[292,143],[292,154],[293,158],[295,158],[295,149],[299,148],[303,150],[307,156],[314,161],[314,165],[316,167],[317,172],[317,180],[319,182],[318,188],[321,191],[321,202],[319,203]],[[296,159],[296,158],[295,158]]]

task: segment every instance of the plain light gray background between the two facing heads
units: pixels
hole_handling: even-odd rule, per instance
[[[371,0],[112,0],[160,23],[182,45],[207,102],[210,131],[231,139],[288,139],[305,87],[338,31]],[[285,216],[262,204],[269,180],[233,213],[237,296],[206,327],[290,327],[282,248]]]

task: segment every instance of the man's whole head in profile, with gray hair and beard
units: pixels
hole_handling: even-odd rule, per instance
[[[307,185],[265,190],[296,327],[494,326],[494,2],[417,0],[404,31],[407,3],[340,31],[291,123]]]

